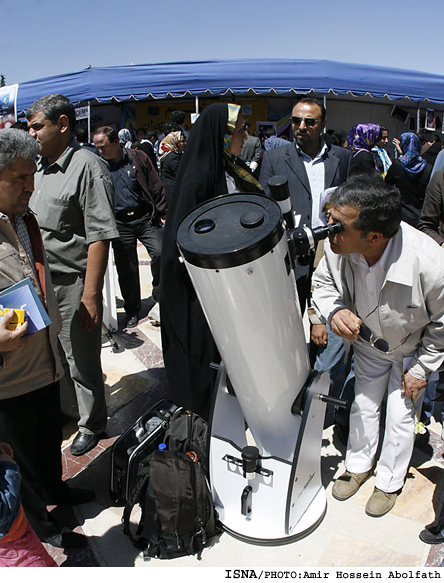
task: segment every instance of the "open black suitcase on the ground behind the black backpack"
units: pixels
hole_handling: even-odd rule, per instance
[[[171,401],[159,401],[114,442],[111,448],[111,496],[114,501],[128,500],[136,485],[140,460],[163,442],[168,421],[177,408]]]

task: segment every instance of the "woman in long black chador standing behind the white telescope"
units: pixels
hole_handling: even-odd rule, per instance
[[[221,194],[262,193],[248,166],[237,159],[247,134],[240,107],[216,103],[194,124],[169,202],[161,272],[162,349],[172,398],[208,419],[220,358],[176,245],[177,228],[196,206]]]

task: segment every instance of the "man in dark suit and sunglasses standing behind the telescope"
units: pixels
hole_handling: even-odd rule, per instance
[[[348,176],[351,153],[339,146],[328,146],[322,137],[326,111],[323,104],[304,97],[294,105],[291,125],[295,141],[286,147],[264,153],[260,183],[270,195],[268,180],[282,175],[288,178],[290,198],[299,225],[317,227],[321,195],[325,189],[339,186]],[[314,260],[314,257],[313,257]],[[312,262],[313,263],[313,262]],[[302,312],[310,295],[313,265],[296,269],[297,288]]]

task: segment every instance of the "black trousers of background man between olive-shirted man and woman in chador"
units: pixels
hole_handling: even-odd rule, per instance
[[[144,245],[151,257],[152,295],[158,301],[162,230],[151,223],[149,214],[129,222],[116,219],[116,224],[120,238],[113,241],[113,250],[120,291],[125,302],[127,316],[137,316],[141,308],[137,241]]]

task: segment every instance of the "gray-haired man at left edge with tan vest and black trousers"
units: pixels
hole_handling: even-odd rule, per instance
[[[12,311],[0,319],[0,442],[10,444],[8,451],[20,466],[22,504],[37,536],[56,547],[74,548],[83,546],[85,537],[57,524],[46,506],[89,502],[94,492],[62,481],[61,318],[39,225],[28,209],[37,154],[37,143],[22,130],[0,130],[0,290],[29,278],[51,320],[25,336],[27,322],[8,329]],[[19,534],[17,523],[9,538]],[[6,543],[4,535],[0,546]]]

